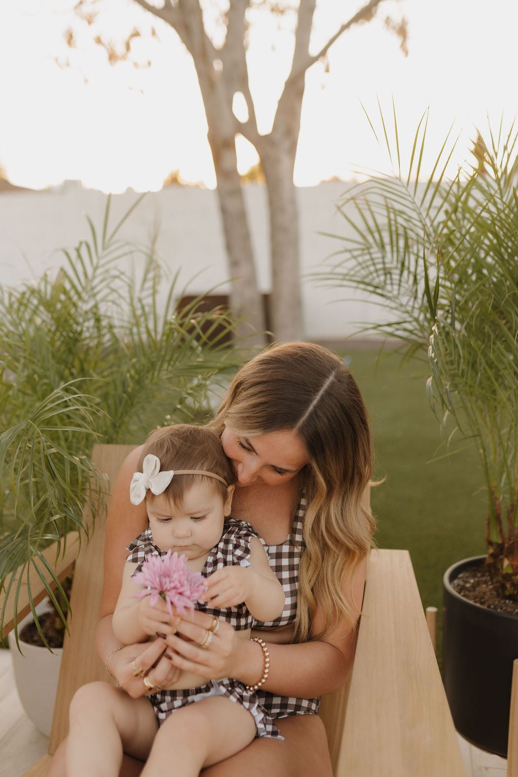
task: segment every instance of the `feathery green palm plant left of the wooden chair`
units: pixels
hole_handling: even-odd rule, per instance
[[[156,426],[202,422],[210,392],[242,363],[228,347],[228,311],[202,312],[202,296],[180,306],[178,274],[166,282],[154,242],[142,249],[120,239],[139,201],[110,229],[108,198],[102,230],[89,221],[90,239],[65,251],[56,272],[0,285],[0,636],[7,603],[16,612],[27,583],[50,647],[33,570],[50,572],[50,622],[65,628],[68,597],[53,560],[71,535],[88,540],[102,503],[93,442],[137,444]],[[16,623],[13,635],[19,647]]]

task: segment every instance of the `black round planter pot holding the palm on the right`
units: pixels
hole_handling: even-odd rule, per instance
[[[444,573],[444,688],[457,731],[506,758],[518,615],[475,605],[451,587],[466,567],[480,566],[484,559],[463,559]]]

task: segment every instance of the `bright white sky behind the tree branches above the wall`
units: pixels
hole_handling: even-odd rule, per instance
[[[12,183],[43,188],[78,179],[106,192],[158,190],[178,169],[183,179],[214,187],[196,76],[176,33],[131,0],[103,0],[111,14],[99,16],[105,29],[130,33],[142,24],[158,33],[132,43],[150,67],[110,67],[104,51],[91,43],[95,24],[78,34],[75,49],[64,44],[64,31],[72,23],[77,27],[74,5],[0,0],[0,164]],[[311,53],[358,7],[357,0],[321,0]],[[408,19],[406,58],[383,27],[391,10]],[[375,117],[379,98],[390,116],[394,96],[400,143],[408,150],[429,106],[433,159],[452,122],[464,133],[462,158],[474,126],[487,127],[486,114],[497,127],[502,113],[506,126],[518,113],[514,0],[385,0],[378,16],[335,43],[329,73],[321,64],[308,71],[298,186],[384,166],[360,102]],[[280,74],[286,77],[289,64],[290,37],[281,33],[272,51],[275,35],[275,26],[262,27],[249,51],[260,131],[269,129]],[[70,67],[64,67],[67,58]],[[256,157],[245,141],[238,151],[245,172]]]

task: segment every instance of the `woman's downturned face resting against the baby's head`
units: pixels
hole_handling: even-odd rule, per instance
[[[309,462],[304,443],[292,430],[244,437],[225,427],[221,442],[234,467],[238,486],[256,483],[280,486],[292,480]]]

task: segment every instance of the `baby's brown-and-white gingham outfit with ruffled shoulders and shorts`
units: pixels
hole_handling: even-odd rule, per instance
[[[221,540],[216,547],[210,551],[210,555],[203,566],[203,576],[207,577],[207,575],[221,569],[223,566],[235,564],[249,566],[250,541],[252,537],[257,536],[256,530],[244,521],[236,521],[235,518],[226,518]],[[149,528],[131,542],[130,545],[127,546],[127,549],[130,551],[130,555],[127,556],[126,560],[137,563],[133,575],[140,572],[142,563],[148,556],[165,556],[165,551],[160,550],[153,542],[151,530]],[[208,612],[209,615],[214,614],[217,615],[217,617],[228,621],[228,623],[231,623],[231,625],[234,626],[236,631],[251,629],[252,626],[255,626],[256,624],[244,604],[236,607],[218,608],[215,610],[213,608],[208,608],[203,602],[197,602],[196,608]],[[279,730],[272,722],[271,716],[269,716],[265,709],[260,705],[257,694],[252,691],[247,691],[243,683],[232,680],[231,678],[224,678],[217,681],[212,680],[206,685],[201,685],[198,688],[187,688],[186,690],[179,691],[160,691],[151,694],[149,698],[155,709],[158,723],[161,725],[174,709],[179,709],[179,707],[191,704],[198,699],[213,695],[224,695],[233,702],[238,702],[238,704],[241,704],[245,709],[248,709],[249,713],[252,714],[256,721],[258,737],[283,739]]]

